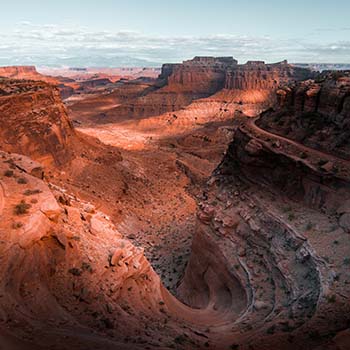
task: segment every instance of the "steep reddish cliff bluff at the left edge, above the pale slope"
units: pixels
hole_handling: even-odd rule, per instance
[[[44,164],[71,158],[75,132],[59,90],[44,82],[0,79],[0,149]]]

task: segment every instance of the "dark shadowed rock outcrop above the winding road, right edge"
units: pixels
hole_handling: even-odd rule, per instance
[[[259,125],[304,145],[350,159],[350,74],[322,73],[278,90],[279,107]]]

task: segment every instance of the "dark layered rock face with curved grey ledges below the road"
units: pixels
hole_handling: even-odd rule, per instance
[[[247,120],[200,205],[180,298],[193,307],[219,301],[231,316],[234,306],[239,348],[337,349],[348,327],[350,167],[303,152]],[[342,170],[322,168],[320,157]]]

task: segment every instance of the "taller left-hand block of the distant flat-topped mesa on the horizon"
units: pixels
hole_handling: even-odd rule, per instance
[[[167,88],[213,94],[225,86],[226,71],[237,66],[233,57],[195,57],[182,64],[165,64],[160,78]]]

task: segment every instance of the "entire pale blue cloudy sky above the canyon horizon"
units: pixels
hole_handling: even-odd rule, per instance
[[[0,0],[0,65],[350,63],[349,0]]]

